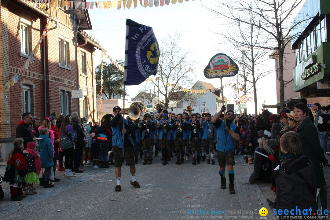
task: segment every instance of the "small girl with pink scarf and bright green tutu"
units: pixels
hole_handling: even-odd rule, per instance
[[[27,165],[26,170],[26,195],[34,195],[37,192],[33,188],[34,184],[39,184],[39,174],[41,171],[41,162],[38,152],[36,151],[36,143],[30,142],[26,144],[26,149],[23,151],[25,154],[25,162]]]

